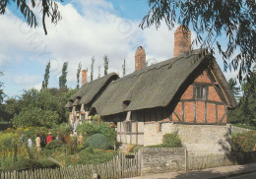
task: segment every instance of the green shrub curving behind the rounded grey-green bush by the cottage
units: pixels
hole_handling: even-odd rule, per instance
[[[114,128],[110,128],[108,124],[100,124],[97,128],[97,133],[104,135],[111,147],[114,147],[117,135]]]

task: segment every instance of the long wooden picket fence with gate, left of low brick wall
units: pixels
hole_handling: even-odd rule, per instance
[[[36,169],[0,173],[1,179],[100,179],[128,178],[141,175],[140,153],[119,153],[105,163],[74,165],[56,169]]]

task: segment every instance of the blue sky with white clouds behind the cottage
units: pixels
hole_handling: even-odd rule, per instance
[[[67,86],[75,89],[77,68],[88,69],[90,82],[91,59],[95,56],[94,78],[103,75],[103,56],[109,58],[108,73],[122,77],[126,60],[126,74],[134,71],[134,55],[138,46],[146,50],[149,64],[173,57],[174,30],[164,24],[156,30],[141,30],[139,24],[148,13],[145,0],[66,0],[59,4],[62,20],[55,26],[46,21],[48,34],[39,26],[31,29],[25,20],[9,6],[0,16],[0,71],[4,76],[4,92],[12,97],[26,89],[40,89],[46,64],[50,61],[49,88],[59,87],[64,62],[68,62]],[[178,25],[176,25],[178,27]],[[195,33],[192,31],[192,39]],[[194,47],[196,48],[196,47]],[[223,69],[221,55],[215,57]],[[234,78],[234,72],[224,72],[225,78]],[[81,82],[81,79],[80,79]]]

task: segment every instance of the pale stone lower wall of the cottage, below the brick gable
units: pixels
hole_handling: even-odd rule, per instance
[[[159,123],[145,124],[144,146],[159,145],[162,136],[177,131],[182,145],[189,153],[209,154],[230,151],[230,126],[217,125],[181,125],[162,123],[161,132]]]

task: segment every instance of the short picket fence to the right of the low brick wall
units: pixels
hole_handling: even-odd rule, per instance
[[[204,168],[212,168],[219,166],[233,165],[234,162],[225,155],[210,154],[210,155],[188,155],[187,170],[198,170]]]

